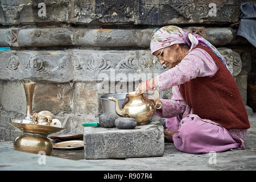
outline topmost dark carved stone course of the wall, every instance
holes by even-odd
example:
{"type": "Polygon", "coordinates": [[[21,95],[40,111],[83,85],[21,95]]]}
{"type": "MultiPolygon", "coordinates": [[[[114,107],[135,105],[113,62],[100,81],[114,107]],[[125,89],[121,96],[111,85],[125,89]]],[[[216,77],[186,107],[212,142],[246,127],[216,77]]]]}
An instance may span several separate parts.
{"type": "Polygon", "coordinates": [[[187,24],[238,22],[240,1],[2,0],[0,23],[187,24]],[[46,8],[42,14],[42,6],[46,8]]]}

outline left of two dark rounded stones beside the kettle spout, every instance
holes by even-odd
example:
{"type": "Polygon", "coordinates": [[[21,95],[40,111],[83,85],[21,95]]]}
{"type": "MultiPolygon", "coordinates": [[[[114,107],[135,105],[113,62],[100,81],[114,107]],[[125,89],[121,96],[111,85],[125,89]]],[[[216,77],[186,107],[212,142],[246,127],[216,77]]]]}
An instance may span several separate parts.
{"type": "Polygon", "coordinates": [[[115,120],[118,118],[114,113],[103,113],[98,117],[98,122],[101,127],[111,128],[115,127],[115,120]]]}

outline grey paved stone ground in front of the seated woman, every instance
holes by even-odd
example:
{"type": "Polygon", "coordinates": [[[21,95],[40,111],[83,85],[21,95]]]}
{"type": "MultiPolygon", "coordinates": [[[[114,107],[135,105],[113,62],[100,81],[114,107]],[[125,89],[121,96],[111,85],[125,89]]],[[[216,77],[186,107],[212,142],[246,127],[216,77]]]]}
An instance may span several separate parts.
{"type": "Polygon", "coordinates": [[[246,150],[216,154],[187,154],[166,143],[164,155],[154,158],[84,159],[84,150],[53,150],[46,164],[39,156],[13,150],[13,142],[0,142],[0,170],[256,170],[256,113],[249,116],[246,150]],[[65,159],[63,159],[65,158],[65,159]]]}

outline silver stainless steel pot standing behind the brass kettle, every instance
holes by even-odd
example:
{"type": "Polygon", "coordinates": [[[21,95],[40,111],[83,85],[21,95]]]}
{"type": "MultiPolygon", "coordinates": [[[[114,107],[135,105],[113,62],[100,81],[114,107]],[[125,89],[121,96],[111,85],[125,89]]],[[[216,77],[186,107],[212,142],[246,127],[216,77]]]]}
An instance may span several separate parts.
{"type": "Polygon", "coordinates": [[[113,93],[105,96],[101,96],[101,105],[103,113],[115,113],[115,102],[108,100],[109,97],[117,98],[119,107],[122,109],[122,102],[125,100],[127,93],[113,93]]]}

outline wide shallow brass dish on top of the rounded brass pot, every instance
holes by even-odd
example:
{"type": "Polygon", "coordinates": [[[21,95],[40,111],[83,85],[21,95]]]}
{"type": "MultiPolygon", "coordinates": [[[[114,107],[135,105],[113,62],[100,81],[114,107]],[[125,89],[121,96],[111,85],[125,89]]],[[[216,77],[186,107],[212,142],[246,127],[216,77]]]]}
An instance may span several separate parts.
{"type": "MultiPolygon", "coordinates": [[[[11,120],[15,121],[16,119],[11,119],[11,120]]],[[[33,133],[33,134],[41,134],[41,135],[49,135],[49,134],[53,134],[53,133],[57,133],[65,130],[62,127],[55,127],[55,126],[26,124],[26,123],[17,123],[17,122],[8,122],[8,123],[25,133],[33,133]]]]}

